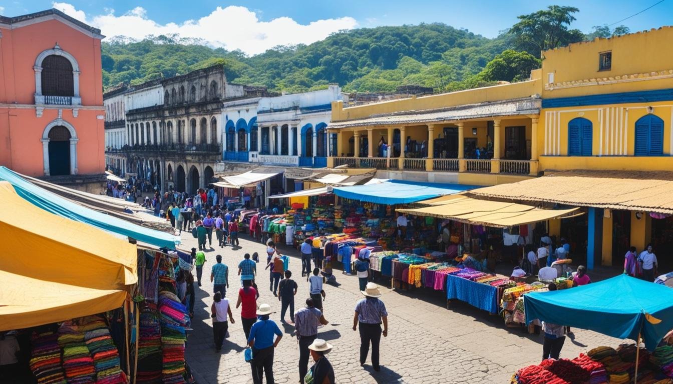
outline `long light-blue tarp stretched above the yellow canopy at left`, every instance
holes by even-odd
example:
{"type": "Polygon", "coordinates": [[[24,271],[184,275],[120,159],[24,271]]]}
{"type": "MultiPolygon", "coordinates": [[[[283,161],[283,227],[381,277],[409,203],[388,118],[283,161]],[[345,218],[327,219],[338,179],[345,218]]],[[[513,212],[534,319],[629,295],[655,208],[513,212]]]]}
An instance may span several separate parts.
{"type": "MultiPolygon", "coordinates": [[[[180,238],[170,233],[141,227],[140,225],[100,213],[97,210],[86,208],[58,196],[28,182],[20,174],[7,167],[0,166],[0,180],[9,182],[16,190],[16,193],[22,198],[55,215],[93,225],[105,231],[128,236],[137,241],[143,241],[143,243],[156,245],[157,247],[175,249],[176,245],[180,243],[180,238]]],[[[36,223],[36,225],[39,224],[36,223]]],[[[96,241],[96,239],[92,239],[92,241],[96,241]]]]}

